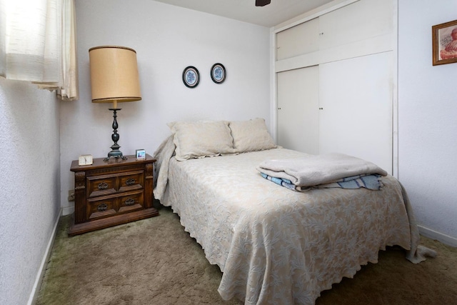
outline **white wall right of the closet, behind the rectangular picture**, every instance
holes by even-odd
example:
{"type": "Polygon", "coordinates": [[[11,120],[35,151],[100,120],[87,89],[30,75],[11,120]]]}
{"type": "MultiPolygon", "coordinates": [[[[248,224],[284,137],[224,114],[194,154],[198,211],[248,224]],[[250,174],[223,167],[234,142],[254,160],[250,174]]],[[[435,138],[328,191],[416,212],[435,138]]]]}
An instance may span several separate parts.
{"type": "Polygon", "coordinates": [[[423,234],[457,246],[457,63],[432,66],[431,26],[455,0],[398,1],[399,179],[423,234]]]}

